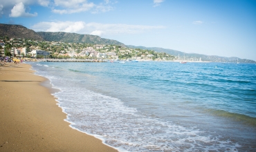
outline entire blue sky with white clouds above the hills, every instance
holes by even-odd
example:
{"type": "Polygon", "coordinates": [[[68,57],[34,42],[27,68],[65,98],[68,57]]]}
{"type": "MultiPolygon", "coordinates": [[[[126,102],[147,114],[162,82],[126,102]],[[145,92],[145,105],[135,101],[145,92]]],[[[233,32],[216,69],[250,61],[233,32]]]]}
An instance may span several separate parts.
{"type": "Polygon", "coordinates": [[[256,61],[256,0],[0,0],[0,23],[256,61]]]}

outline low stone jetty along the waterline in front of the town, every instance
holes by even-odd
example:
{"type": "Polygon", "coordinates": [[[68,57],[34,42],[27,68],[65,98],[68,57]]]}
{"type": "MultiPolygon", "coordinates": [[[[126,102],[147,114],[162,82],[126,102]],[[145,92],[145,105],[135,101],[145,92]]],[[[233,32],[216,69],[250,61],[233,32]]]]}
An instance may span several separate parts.
{"type": "Polygon", "coordinates": [[[37,59],[45,62],[106,62],[100,59],[37,59]]]}

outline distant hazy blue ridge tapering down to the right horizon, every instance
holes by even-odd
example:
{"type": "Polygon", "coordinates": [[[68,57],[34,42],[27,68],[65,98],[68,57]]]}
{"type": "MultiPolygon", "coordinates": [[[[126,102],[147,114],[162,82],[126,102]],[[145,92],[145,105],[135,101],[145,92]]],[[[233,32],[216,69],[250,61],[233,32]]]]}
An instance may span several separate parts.
{"type": "Polygon", "coordinates": [[[140,48],[143,50],[154,50],[158,53],[167,53],[170,55],[174,55],[176,57],[180,57],[180,59],[192,60],[192,59],[200,59],[201,61],[213,61],[213,62],[240,62],[240,63],[256,63],[251,59],[240,59],[239,57],[220,57],[217,55],[201,55],[197,53],[183,53],[179,50],[172,50],[166,48],[157,48],[157,47],[145,47],[145,46],[127,46],[128,48],[140,48]]]}

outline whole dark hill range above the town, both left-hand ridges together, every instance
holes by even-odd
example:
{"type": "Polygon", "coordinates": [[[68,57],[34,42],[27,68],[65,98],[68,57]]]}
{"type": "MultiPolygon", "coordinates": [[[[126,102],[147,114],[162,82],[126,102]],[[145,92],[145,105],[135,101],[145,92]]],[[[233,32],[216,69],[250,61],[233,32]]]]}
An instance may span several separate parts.
{"type": "Polygon", "coordinates": [[[96,35],[80,35],[69,32],[35,32],[24,26],[0,23],[0,37],[32,39],[37,41],[61,41],[66,43],[109,44],[124,46],[112,39],[104,39],[96,35]]]}

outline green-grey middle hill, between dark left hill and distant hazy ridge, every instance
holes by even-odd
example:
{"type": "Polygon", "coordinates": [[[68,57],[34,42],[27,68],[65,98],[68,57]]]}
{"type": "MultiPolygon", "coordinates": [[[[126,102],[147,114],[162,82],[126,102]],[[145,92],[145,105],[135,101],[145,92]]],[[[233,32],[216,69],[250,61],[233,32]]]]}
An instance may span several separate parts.
{"type": "Polygon", "coordinates": [[[104,39],[96,35],[80,35],[69,32],[37,32],[45,41],[61,41],[66,43],[86,43],[86,44],[112,44],[125,46],[125,44],[113,39],[104,39]]]}

